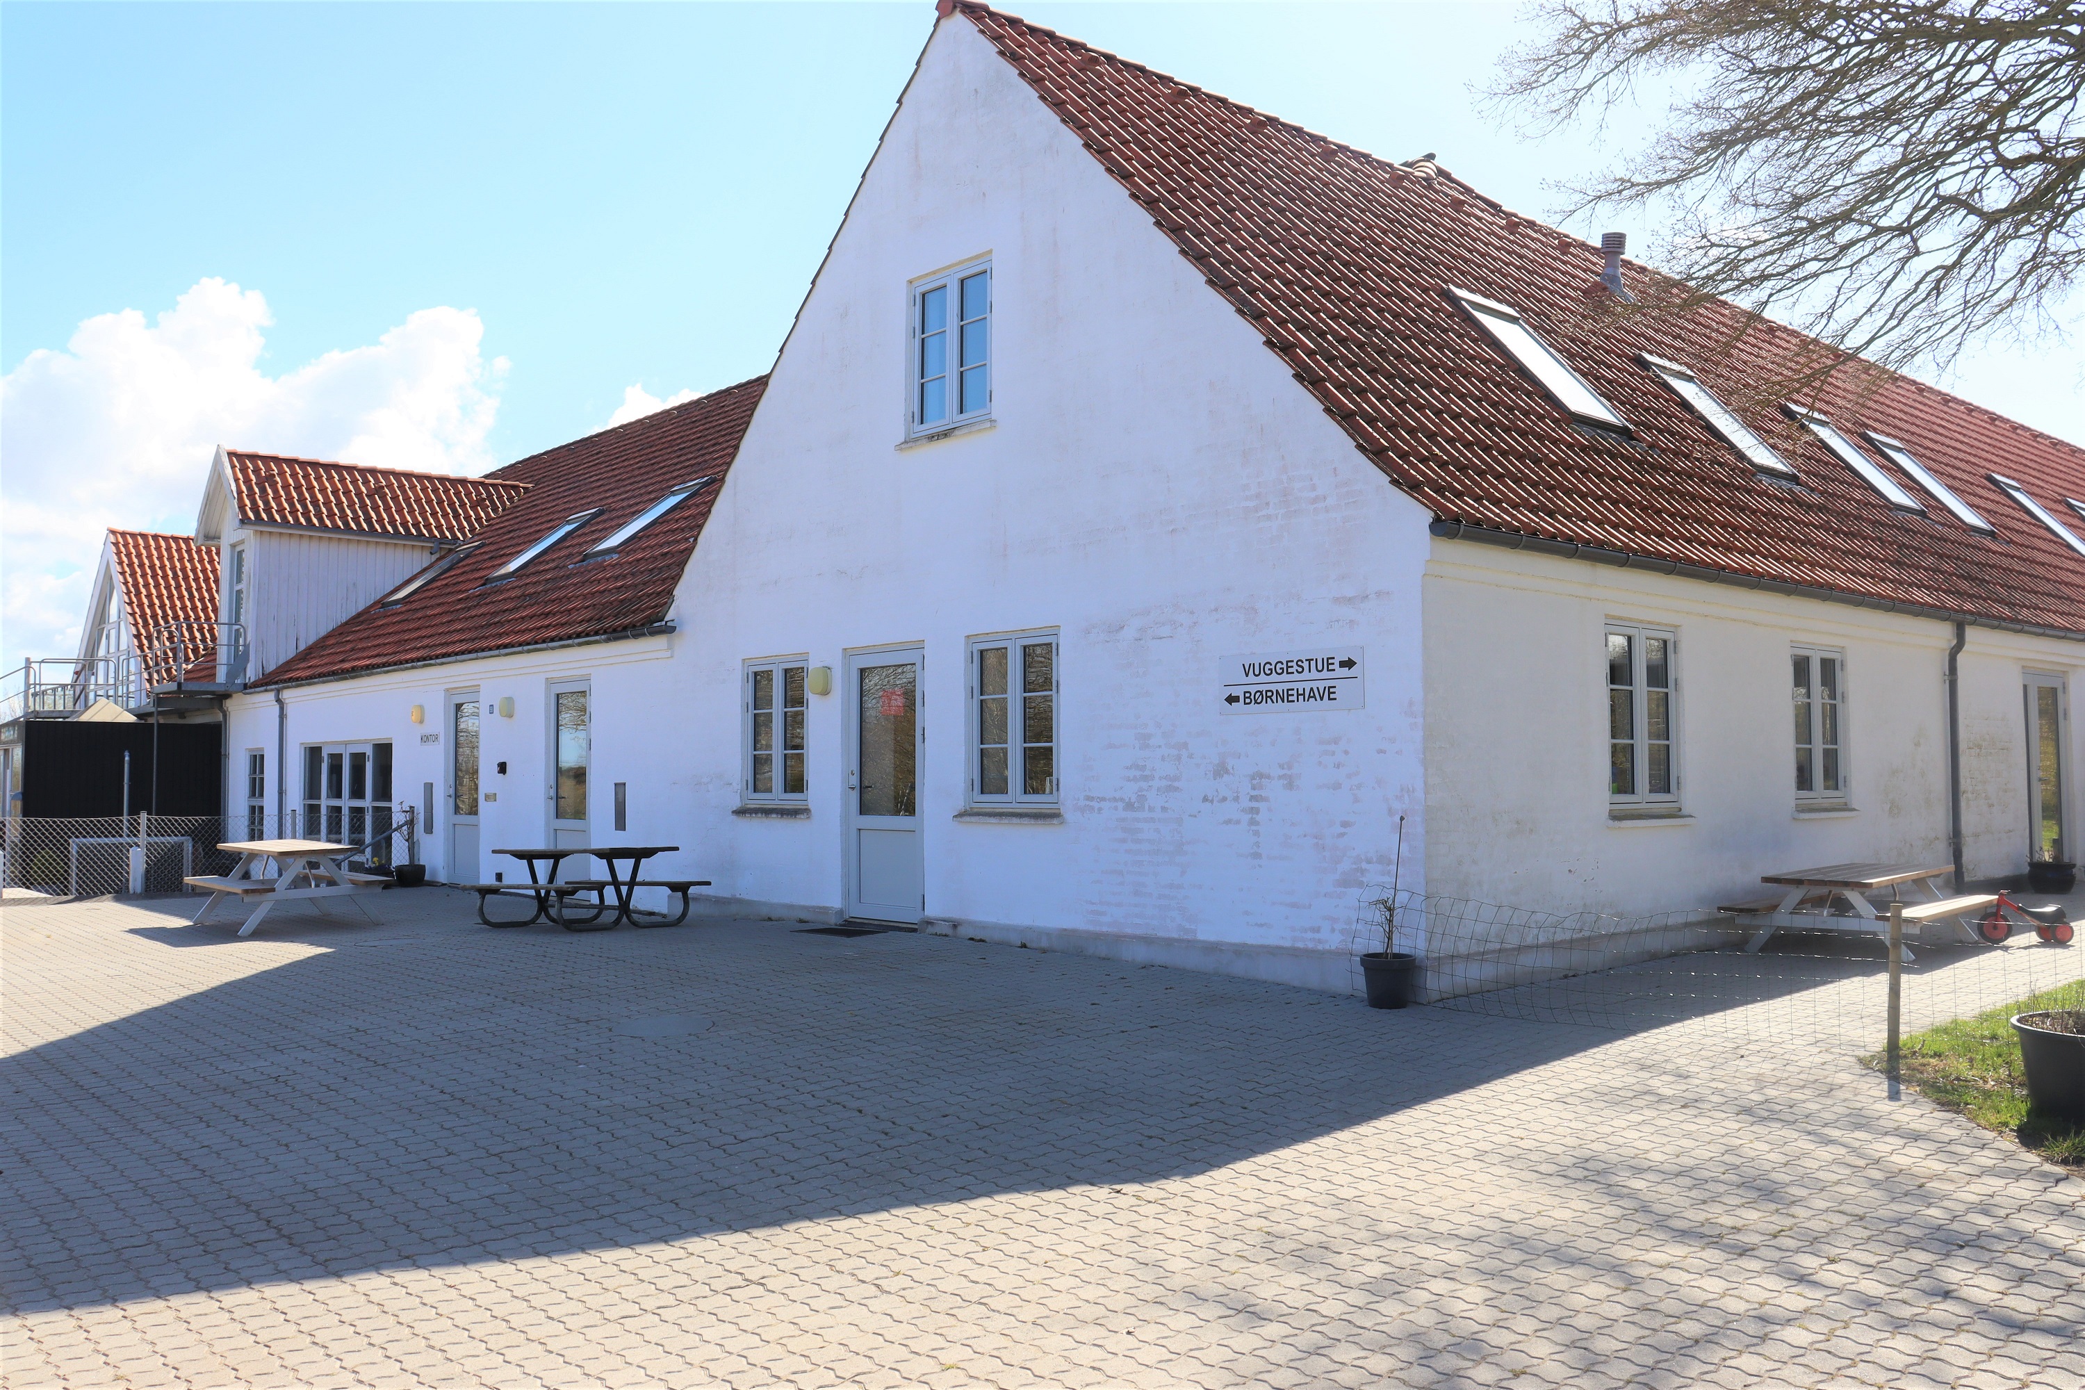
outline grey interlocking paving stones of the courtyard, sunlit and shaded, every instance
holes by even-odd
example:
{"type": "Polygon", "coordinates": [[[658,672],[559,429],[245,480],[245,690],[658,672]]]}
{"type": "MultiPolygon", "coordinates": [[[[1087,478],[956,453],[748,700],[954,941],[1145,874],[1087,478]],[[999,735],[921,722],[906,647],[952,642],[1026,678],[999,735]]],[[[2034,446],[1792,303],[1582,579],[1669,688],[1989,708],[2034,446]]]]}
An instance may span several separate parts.
{"type": "Polygon", "coordinates": [[[1787,1000],[181,911],[4,913],[8,1386],[2085,1386],[2085,1182],[1787,1000]]]}

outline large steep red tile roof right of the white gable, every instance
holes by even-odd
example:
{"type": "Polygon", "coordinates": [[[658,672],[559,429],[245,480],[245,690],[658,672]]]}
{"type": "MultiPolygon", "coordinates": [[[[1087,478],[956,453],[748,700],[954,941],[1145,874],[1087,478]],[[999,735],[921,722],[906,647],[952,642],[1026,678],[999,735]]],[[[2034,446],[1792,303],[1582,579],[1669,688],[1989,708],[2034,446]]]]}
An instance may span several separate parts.
{"type": "MultiPolygon", "coordinates": [[[[1731,304],[1618,319],[1587,296],[1597,248],[1445,171],[1374,158],[982,4],[942,0],[942,13],[976,25],[1439,521],[2085,631],[2085,559],[1985,477],[2018,479],[2079,525],[2064,498],[2085,498],[2085,450],[1904,375],[1837,373],[1808,404],[1847,436],[1874,429],[1908,444],[1997,536],[1964,529],[1939,504],[1927,517],[1891,511],[1758,402],[1789,363],[1829,352],[1822,344],[1772,323],[1739,338],[1747,317],[1731,304]],[[1518,308],[1637,440],[1574,425],[1447,286],[1518,308]],[[1637,363],[1645,350],[1693,367],[1801,486],[1762,479],[1637,363]]],[[[1626,265],[1624,277],[1643,292],[1643,267],[1626,265]]]]}

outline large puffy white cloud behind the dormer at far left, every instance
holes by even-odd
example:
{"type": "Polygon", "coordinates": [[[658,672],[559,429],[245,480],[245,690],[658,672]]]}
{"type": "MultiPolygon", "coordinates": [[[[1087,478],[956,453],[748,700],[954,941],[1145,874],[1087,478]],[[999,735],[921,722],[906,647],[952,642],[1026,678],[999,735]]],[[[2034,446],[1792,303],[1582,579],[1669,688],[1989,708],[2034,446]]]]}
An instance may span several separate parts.
{"type": "Polygon", "coordinates": [[[192,531],[219,444],[446,473],[492,467],[505,358],[467,308],[421,308],[373,346],[261,371],[259,290],[196,281],[154,323],[79,325],[0,379],[4,663],[77,648],[111,525],[192,531]]]}

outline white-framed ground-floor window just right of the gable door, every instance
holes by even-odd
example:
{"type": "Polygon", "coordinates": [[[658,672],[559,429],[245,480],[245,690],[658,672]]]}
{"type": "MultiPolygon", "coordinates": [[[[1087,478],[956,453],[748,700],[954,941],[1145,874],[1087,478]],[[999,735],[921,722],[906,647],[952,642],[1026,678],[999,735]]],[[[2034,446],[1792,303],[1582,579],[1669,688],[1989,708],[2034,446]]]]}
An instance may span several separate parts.
{"type": "Polygon", "coordinates": [[[970,800],[1057,804],[1057,631],[970,640],[970,800]]]}

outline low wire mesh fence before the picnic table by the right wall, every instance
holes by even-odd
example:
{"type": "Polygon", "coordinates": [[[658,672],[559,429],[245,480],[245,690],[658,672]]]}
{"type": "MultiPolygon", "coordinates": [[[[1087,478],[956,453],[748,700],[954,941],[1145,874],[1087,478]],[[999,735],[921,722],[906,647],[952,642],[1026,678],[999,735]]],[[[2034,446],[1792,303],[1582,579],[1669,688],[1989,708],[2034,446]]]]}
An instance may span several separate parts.
{"type": "MultiPolygon", "coordinates": [[[[1355,957],[1384,948],[1393,913],[1395,948],[1420,959],[1418,1000],[1432,1007],[1614,1029],[1718,1019],[1760,1040],[1883,1046],[1887,919],[1833,915],[1820,929],[1764,934],[1708,909],[1543,913],[1378,886],[1355,913],[1355,957]]],[[[2085,988],[2085,948],[2043,940],[2033,923],[1991,942],[1979,919],[1906,934],[1906,1032],[2085,988]]]]}

